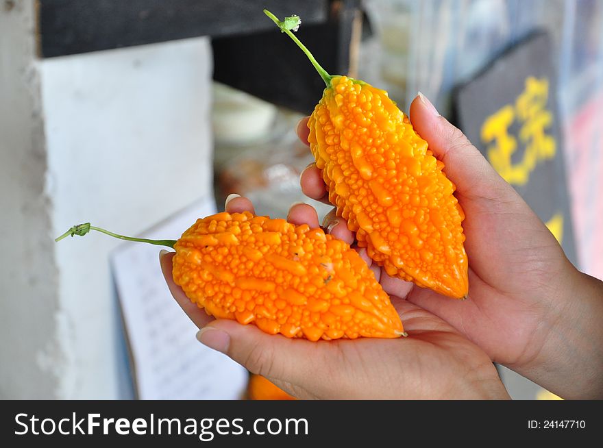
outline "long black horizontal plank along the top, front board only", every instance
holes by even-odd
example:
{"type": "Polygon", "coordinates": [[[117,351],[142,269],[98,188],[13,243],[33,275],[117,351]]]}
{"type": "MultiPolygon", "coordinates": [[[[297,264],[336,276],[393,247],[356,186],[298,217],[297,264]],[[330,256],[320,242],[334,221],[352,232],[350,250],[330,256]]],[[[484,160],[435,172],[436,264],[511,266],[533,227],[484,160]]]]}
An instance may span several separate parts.
{"type": "Polygon", "coordinates": [[[38,0],[42,58],[274,27],[262,10],[324,23],[328,0],[38,0]]]}

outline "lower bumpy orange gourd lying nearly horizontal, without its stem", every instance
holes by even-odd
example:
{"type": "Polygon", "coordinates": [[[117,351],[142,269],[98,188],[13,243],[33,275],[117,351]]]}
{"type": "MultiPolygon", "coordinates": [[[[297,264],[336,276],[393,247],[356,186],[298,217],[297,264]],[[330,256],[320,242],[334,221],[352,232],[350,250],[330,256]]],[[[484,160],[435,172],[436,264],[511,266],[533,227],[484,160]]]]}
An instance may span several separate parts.
{"type": "Polygon", "coordinates": [[[367,264],[321,229],[223,212],[197,220],[174,249],[174,282],[217,318],[309,340],[404,332],[367,264]]]}

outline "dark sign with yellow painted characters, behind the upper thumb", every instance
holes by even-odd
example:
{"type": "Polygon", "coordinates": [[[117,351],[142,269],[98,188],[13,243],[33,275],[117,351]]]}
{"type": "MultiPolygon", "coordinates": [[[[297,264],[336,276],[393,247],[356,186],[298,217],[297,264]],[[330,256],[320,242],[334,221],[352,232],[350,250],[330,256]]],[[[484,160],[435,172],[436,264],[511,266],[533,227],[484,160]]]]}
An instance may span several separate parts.
{"type": "Polygon", "coordinates": [[[552,42],[530,36],[456,91],[460,129],[576,262],[552,42]]]}

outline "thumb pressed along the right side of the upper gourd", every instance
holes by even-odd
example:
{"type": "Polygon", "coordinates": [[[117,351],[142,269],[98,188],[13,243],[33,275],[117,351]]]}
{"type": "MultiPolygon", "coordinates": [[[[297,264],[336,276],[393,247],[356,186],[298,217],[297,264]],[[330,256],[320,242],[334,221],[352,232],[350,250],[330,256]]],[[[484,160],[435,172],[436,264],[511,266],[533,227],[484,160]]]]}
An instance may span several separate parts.
{"type": "MultiPolygon", "coordinates": [[[[410,121],[429,149],[444,164],[444,172],[456,185],[456,192],[467,199],[517,198],[517,193],[492,168],[465,134],[441,116],[421,93],[410,104],[410,121]]],[[[460,200],[460,199],[459,199],[460,200]]]]}

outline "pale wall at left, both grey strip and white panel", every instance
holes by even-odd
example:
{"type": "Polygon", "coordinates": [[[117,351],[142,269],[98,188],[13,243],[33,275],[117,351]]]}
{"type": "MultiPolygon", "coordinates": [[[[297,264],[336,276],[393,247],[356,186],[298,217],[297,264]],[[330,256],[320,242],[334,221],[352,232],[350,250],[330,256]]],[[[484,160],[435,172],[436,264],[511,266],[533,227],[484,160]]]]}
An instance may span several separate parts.
{"type": "Polygon", "coordinates": [[[210,191],[209,43],[35,60],[17,3],[21,17],[0,13],[0,397],[124,397],[119,241],[52,238],[88,221],[135,235],[210,191]]]}

